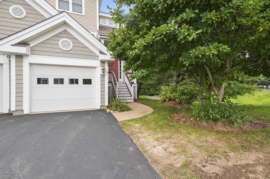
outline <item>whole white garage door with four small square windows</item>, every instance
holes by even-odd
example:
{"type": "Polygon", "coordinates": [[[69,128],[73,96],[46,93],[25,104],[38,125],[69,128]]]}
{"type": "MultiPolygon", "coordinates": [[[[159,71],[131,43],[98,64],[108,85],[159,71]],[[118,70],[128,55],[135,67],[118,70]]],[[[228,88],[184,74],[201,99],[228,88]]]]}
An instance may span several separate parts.
{"type": "Polygon", "coordinates": [[[96,108],[96,68],[31,64],[31,112],[96,108]]]}

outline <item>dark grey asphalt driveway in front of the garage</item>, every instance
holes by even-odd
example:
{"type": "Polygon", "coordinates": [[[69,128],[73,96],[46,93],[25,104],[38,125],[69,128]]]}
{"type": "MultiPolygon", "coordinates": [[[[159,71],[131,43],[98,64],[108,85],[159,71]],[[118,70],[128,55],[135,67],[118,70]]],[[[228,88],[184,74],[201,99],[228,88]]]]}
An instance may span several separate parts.
{"type": "Polygon", "coordinates": [[[0,178],[161,178],[104,110],[0,115],[0,178]]]}

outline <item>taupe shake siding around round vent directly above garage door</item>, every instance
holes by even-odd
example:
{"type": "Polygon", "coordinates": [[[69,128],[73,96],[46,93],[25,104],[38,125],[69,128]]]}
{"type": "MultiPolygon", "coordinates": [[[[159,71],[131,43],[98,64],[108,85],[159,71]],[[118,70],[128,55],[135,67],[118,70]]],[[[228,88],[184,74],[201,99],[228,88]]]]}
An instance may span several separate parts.
{"type": "Polygon", "coordinates": [[[90,50],[85,44],[80,42],[67,30],[36,44],[30,48],[31,55],[46,55],[54,57],[70,57],[98,60],[99,56],[90,50]],[[73,47],[69,51],[64,51],[59,47],[59,41],[62,38],[68,38],[73,43],[73,47]]]}

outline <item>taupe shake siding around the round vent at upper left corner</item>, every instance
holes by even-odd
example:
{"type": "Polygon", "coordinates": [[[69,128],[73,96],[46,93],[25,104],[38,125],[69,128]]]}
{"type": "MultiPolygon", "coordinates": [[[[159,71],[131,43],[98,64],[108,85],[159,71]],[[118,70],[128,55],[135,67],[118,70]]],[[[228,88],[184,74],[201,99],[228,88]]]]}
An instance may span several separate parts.
{"type": "Polygon", "coordinates": [[[35,8],[23,0],[0,1],[0,39],[26,29],[47,19],[35,8]],[[21,6],[26,11],[26,16],[17,19],[9,13],[9,8],[13,5],[21,6]]]}

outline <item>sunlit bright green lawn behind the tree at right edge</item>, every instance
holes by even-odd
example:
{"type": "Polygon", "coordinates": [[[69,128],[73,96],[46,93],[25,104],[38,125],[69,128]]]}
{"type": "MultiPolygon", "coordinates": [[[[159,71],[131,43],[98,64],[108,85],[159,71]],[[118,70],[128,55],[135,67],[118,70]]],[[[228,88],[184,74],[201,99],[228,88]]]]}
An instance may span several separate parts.
{"type": "Polygon", "coordinates": [[[248,107],[247,115],[258,120],[270,122],[270,92],[258,90],[254,93],[254,96],[252,94],[245,94],[231,101],[248,107]]]}

